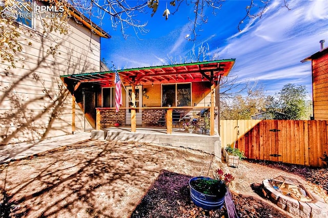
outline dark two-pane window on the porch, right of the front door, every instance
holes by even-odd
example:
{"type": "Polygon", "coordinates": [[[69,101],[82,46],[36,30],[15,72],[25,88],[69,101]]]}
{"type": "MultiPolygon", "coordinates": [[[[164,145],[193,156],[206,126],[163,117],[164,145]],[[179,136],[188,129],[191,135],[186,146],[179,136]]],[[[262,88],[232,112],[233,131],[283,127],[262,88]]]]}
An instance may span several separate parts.
{"type": "Polygon", "coordinates": [[[191,106],[191,83],[163,84],[162,106],[191,106]]]}

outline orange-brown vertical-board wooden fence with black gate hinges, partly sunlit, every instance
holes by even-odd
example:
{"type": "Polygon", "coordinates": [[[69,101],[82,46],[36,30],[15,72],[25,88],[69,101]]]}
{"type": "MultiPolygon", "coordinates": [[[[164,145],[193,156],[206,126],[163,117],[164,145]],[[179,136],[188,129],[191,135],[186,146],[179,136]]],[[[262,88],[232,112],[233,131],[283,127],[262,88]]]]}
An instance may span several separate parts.
{"type": "Polygon", "coordinates": [[[238,127],[234,127],[234,124],[228,125],[229,122],[236,121],[220,122],[222,145],[233,145],[236,140],[235,147],[242,150],[247,158],[323,166],[320,157],[328,152],[326,120],[261,120],[244,131],[241,131],[242,126],[253,123],[238,120],[238,125],[235,123],[238,127]],[[238,136],[235,129],[237,133],[240,129],[238,136]],[[233,135],[235,139],[226,141],[226,135],[227,138],[233,135]]]}

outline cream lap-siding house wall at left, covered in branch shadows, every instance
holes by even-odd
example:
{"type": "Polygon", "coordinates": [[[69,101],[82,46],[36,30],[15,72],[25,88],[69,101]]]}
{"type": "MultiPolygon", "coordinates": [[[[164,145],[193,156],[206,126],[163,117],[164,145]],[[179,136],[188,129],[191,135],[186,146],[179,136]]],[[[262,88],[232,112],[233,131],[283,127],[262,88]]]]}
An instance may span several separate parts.
{"type": "MultiPolygon", "coordinates": [[[[16,69],[8,69],[8,63],[0,65],[0,144],[71,134],[72,95],[59,76],[100,71],[98,35],[69,20],[67,35],[44,37],[40,25],[36,19],[33,37],[22,36],[24,49],[17,58],[24,58],[24,63],[17,63],[16,69]],[[55,45],[49,38],[60,44],[54,55],[47,53],[55,45]]],[[[75,132],[91,127],[78,104],[75,126],[75,132]]]]}

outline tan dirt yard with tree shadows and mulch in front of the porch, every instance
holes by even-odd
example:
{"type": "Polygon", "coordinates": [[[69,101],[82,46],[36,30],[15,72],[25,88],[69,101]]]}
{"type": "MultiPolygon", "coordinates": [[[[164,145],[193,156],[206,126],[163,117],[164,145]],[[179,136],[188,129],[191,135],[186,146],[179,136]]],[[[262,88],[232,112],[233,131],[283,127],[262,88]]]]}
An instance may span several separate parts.
{"type": "MultiPolygon", "coordinates": [[[[217,165],[210,169],[211,162],[212,156],[203,152],[145,143],[89,140],[64,146],[0,165],[0,216],[227,217],[224,207],[203,211],[190,202],[189,178],[212,176],[217,165]]],[[[326,169],[313,170],[328,177],[326,169]]],[[[242,217],[290,217],[254,188],[279,175],[300,180],[327,200],[322,188],[327,183],[302,175],[309,170],[299,166],[243,161],[229,171],[242,217]],[[281,167],[296,168],[289,173],[281,167]]]]}

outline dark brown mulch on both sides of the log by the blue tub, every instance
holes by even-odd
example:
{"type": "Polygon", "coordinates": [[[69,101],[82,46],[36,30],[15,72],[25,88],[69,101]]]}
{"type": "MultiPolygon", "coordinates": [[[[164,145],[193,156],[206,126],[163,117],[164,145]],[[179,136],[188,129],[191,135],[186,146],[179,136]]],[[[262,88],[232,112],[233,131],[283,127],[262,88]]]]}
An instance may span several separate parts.
{"type": "MultiPolygon", "coordinates": [[[[228,217],[225,206],[208,211],[193,204],[188,185],[191,178],[163,170],[131,217],[228,217]]],[[[240,217],[291,217],[259,198],[239,194],[232,196],[240,217]]]]}

